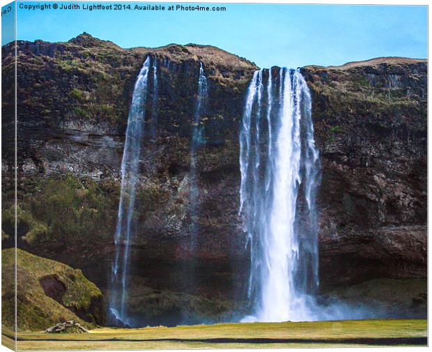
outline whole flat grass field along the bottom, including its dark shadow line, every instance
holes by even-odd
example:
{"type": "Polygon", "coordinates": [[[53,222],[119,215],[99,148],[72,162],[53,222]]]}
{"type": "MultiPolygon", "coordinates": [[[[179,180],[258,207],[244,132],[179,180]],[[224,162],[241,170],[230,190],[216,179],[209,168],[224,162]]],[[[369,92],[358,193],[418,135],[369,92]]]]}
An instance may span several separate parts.
{"type": "MultiPolygon", "coordinates": [[[[6,331],[3,331],[5,334],[6,331]]],[[[100,328],[88,334],[20,332],[18,350],[227,349],[425,346],[427,322],[414,320],[226,323],[175,328],[100,328]]],[[[9,336],[10,337],[10,336],[9,336]]],[[[13,343],[3,335],[3,344],[13,343]]]]}

